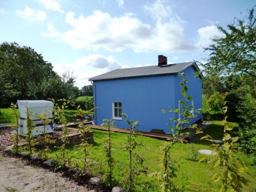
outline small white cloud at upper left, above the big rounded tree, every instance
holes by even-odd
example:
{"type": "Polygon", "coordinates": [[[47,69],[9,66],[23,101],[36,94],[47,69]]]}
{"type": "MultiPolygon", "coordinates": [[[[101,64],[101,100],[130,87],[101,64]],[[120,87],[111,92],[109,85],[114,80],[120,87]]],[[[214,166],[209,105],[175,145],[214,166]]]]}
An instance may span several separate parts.
{"type": "Polygon", "coordinates": [[[24,11],[17,10],[16,13],[17,13],[17,15],[19,15],[25,19],[32,20],[34,22],[36,22],[36,21],[42,22],[47,17],[46,13],[44,11],[40,11],[40,10],[37,11],[37,10],[30,8],[29,6],[26,6],[24,11]]]}

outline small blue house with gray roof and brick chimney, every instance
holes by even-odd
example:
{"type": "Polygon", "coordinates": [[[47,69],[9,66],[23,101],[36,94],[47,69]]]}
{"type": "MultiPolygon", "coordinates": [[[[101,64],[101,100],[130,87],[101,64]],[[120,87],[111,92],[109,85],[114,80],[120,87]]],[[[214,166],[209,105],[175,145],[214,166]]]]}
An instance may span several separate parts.
{"type": "MultiPolygon", "coordinates": [[[[89,80],[93,82],[94,120],[100,125],[103,119],[115,120],[116,127],[127,128],[121,113],[129,119],[138,120],[140,131],[153,129],[170,132],[167,124],[175,126],[170,117],[175,114],[162,113],[162,110],[180,108],[181,77],[184,73],[189,79],[188,94],[193,96],[191,105],[194,109],[202,108],[202,75],[195,77],[199,71],[196,62],[167,64],[167,57],[158,56],[157,66],[117,69],[89,80]]],[[[179,114],[176,114],[177,118],[179,114]]],[[[201,119],[201,114],[191,120],[201,119]]]]}

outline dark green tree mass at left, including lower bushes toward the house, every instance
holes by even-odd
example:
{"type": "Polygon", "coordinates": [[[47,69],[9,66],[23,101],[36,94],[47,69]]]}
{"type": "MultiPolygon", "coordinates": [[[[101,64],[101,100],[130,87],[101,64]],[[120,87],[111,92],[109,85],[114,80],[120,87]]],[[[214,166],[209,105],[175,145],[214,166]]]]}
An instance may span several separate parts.
{"type": "Polygon", "coordinates": [[[0,44],[0,105],[17,99],[74,98],[79,89],[73,74],[60,77],[41,54],[16,42],[0,44]]]}

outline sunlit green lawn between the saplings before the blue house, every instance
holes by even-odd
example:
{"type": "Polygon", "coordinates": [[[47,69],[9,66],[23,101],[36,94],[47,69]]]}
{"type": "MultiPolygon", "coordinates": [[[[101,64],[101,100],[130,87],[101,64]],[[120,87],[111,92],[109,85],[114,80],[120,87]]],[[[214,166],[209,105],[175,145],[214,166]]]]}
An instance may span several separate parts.
{"type": "MultiPolygon", "coordinates": [[[[207,141],[201,141],[201,136],[205,134],[212,135],[215,139],[222,139],[223,126],[221,121],[212,121],[214,124],[210,125],[208,129],[204,131],[203,134],[197,135],[193,138],[193,147],[196,151],[200,149],[210,149],[210,143],[207,141]]],[[[103,166],[104,162],[104,138],[106,133],[104,131],[93,130],[95,144],[91,147],[90,158],[90,172],[98,177],[103,177],[103,166]]],[[[126,140],[126,134],[112,133],[112,144],[113,144],[113,156],[116,160],[114,175],[118,182],[123,180],[123,174],[126,172],[128,167],[129,156],[124,150],[124,141],[126,140]]],[[[157,140],[149,137],[138,136],[137,141],[142,142],[144,146],[139,146],[137,148],[137,153],[145,158],[145,165],[148,167],[148,174],[145,176],[140,176],[137,181],[138,191],[159,191],[159,185],[156,179],[148,176],[150,173],[154,173],[160,170],[160,159],[162,153],[159,147],[164,141],[157,140]],[[148,187],[148,188],[147,188],[148,187]]],[[[202,163],[189,160],[191,144],[176,144],[175,148],[172,150],[172,156],[180,165],[178,168],[177,178],[174,179],[175,183],[179,187],[183,187],[183,191],[219,191],[220,181],[214,182],[211,177],[218,170],[213,166],[205,166],[202,163]]],[[[73,146],[69,146],[70,156],[72,157],[72,164],[78,162],[81,166],[81,154],[82,152],[75,152],[73,146]]],[[[59,154],[58,150],[55,148],[49,153],[51,158],[56,158],[55,154],[59,154]]],[[[244,161],[248,161],[245,154],[239,153],[238,156],[244,161]]],[[[218,170],[222,171],[222,170],[218,170]]],[[[256,186],[253,184],[253,179],[256,176],[256,167],[249,167],[248,171],[250,176],[247,176],[251,180],[249,186],[245,188],[244,191],[255,191],[256,186]]],[[[121,184],[119,184],[121,185],[121,184]]]]}

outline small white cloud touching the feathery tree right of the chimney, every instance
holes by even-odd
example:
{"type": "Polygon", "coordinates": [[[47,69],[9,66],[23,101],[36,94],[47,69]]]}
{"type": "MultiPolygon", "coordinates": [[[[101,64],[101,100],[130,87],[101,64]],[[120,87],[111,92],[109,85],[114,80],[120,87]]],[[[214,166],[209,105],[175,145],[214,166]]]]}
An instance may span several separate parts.
{"type": "Polygon", "coordinates": [[[224,34],[218,30],[215,25],[202,27],[198,32],[199,40],[197,42],[197,46],[199,48],[206,48],[210,44],[212,44],[212,38],[214,37],[223,37],[224,34]]]}

